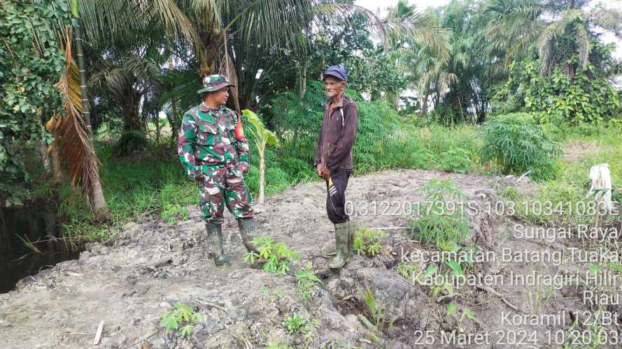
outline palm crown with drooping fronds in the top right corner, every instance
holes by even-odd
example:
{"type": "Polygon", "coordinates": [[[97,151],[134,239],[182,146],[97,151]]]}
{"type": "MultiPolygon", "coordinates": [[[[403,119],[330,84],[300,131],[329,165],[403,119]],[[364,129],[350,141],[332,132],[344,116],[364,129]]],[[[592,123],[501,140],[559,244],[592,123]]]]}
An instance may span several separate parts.
{"type": "Polygon", "coordinates": [[[506,52],[504,66],[537,50],[540,73],[550,76],[563,67],[572,76],[586,68],[594,29],[622,38],[622,11],[596,6],[586,0],[490,0],[486,6],[493,21],[487,37],[490,49],[506,52]],[[573,56],[578,63],[569,62],[573,56]]]}

